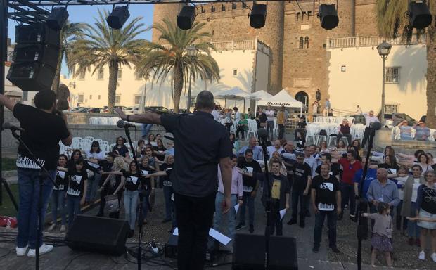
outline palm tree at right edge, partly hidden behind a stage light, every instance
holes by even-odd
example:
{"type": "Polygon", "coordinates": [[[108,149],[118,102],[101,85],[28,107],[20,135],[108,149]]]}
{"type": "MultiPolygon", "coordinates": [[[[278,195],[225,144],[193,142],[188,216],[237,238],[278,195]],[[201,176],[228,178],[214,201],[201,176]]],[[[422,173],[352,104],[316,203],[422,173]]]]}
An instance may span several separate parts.
{"type": "MultiPolygon", "coordinates": [[[[386,38],[404,37],[411,40],[413,29],[409,19],[404,16],[408,8],[408,1],[378,0],[376,4],[377,26],[380,35],[386,38]]],[[[431,13],[436,14],[436,5],[430,4],[431,13]]],[[[416,34],[423,34],[423,30],[416,34]]],[[[436,127],[436,20],[427,27],[427,119],[428,127],[436,127]]]]}

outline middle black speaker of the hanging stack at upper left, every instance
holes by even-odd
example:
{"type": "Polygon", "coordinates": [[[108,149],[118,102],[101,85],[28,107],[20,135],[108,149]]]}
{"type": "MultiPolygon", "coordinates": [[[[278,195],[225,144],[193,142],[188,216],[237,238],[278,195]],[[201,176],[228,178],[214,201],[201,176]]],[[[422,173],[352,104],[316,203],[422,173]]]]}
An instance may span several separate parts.
{"type": "Polygon", "coordinates": [[[13,63],[39,62],[50,65],[52,68],[58,66],[59,47],[43,44],[18,44],[13,49],[13,63]]]}

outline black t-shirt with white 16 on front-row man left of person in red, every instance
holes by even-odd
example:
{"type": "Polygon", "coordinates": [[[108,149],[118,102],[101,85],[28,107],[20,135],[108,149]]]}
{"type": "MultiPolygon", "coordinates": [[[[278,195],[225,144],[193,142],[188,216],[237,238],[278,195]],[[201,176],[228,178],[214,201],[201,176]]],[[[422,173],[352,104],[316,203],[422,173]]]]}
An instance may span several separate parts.
{"type": "Polygon", "coordinates": [[[312,189],[316,190],[315,204],[319,210],[333,211],[336,206],[336,191],[339,191],[339,181],[335,176],[329,175],[328,179],[317,175],[312,180],[312,189]]]}

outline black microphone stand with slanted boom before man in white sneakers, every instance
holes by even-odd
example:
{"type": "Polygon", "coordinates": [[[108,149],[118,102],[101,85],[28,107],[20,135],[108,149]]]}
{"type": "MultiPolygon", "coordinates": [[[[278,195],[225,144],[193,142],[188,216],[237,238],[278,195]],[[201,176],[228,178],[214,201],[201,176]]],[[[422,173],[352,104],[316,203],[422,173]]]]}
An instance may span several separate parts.
{"type": "Polygon", "coordinates": [[[29,153],[30,158],[34,160],[34,162],[38,165],[40,172],[39,172],[39,198],[38,198],[38,209],[37,209],[37,246],[35,247],[35,269],[39,270],[39,234],[41,233],[41,211],[42,211],[42,187],[44,186],[44,179],[49,178],[53,186],[56,188],[59,188],[59,186],[56,184],[56,182],[53,180],[53,178],[50,176],[49,172],[47,171],[44,166],[41,165],[39,160],[35,157],[34,153],[27,147],[27,145],[24,143],[24,141],[21,139],[20,135],[16,133],[15,130],[11,130],[12,136],[18,140],[18,142],[24,146],[24,148],[27,150],[27,153],[29,153]]]}

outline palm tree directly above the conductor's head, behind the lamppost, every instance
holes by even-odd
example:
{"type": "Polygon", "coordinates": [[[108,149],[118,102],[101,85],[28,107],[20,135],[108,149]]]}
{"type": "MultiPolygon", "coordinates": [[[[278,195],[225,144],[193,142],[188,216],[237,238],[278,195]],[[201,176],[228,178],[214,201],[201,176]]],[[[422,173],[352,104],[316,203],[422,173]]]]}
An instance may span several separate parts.
{"type": "Polygon", "coordinates": [[[168,75],[172,75],[174,86],[174,112],[179,112],[181,91],[192,71],[192,79],[200,77],[203,81],[219,80],[217,61],[210,55],[216,51],[215,47],[205,41],[210,39],[208,32],[201,32],[205,23],[194,23],[190,30],[181,30],[167,18],[163,24],[155,25],[155,31],[160,32],[160,44],[150,42],[146,44],[144,57],[136,64],[136,73],[143,77],[151,76],[152,82],[163,82],[168,75]],[[165,44],[165,45],[162,45],[165,44]],[[186,47],[195,44],[199,53],[196,57],[186,54],[186,47]]]}

